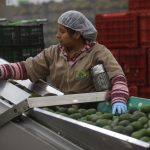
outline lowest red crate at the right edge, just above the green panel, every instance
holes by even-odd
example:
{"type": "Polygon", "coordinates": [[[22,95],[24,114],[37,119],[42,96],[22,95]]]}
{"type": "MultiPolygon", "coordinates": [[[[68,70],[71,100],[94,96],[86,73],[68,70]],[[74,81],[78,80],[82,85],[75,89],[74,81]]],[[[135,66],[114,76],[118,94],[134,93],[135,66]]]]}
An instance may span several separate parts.
{"type": "Polygon", "coordinates": [[[139,97],[150,98],[150,86],[139,87],[139,97]]]}

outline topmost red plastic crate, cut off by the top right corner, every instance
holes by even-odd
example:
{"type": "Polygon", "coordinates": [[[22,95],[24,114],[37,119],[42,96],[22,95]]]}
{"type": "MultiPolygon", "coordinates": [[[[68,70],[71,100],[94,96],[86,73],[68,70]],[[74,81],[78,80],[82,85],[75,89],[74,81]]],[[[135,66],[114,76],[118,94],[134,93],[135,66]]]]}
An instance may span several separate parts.
{"type": "Polygon", "coordinates": [[[129,11],[150,10],[150,0],[128,0],[129,11]]]}

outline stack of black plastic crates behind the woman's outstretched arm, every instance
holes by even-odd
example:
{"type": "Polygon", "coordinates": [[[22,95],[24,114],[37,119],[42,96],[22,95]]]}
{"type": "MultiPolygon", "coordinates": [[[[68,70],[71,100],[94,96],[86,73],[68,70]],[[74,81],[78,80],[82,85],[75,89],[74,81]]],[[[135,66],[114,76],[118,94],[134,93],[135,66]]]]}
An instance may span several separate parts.
{"type": "MultiPolygon", "coordinates": [[[[27,21],[26,21],[27,22],[27,21]]],[[[0,23],[0,57],[17,62],[35,56],[44,48],[42,23],[0,23]]]]}

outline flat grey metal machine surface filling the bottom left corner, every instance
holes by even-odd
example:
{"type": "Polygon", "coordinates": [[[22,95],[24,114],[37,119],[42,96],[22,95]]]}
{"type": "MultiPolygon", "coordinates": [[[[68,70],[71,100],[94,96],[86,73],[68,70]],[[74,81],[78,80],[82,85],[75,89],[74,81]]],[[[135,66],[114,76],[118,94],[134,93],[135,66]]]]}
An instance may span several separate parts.
{"type": "MultiPolygon", "coordinates": [[[[7,107],[0,103],[0,110],[7,107]]],[[[56,132],[24,116],[22,122],[10,121],[0,128],[1,150],[83,150],[56,132]]]]}

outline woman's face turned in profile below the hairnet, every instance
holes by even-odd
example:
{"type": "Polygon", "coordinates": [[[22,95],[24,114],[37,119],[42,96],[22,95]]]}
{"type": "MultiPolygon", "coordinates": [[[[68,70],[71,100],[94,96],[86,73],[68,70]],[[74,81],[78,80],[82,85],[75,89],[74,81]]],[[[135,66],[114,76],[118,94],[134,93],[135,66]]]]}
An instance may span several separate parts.
{"type": "Polygon", "coordinates": [[[70,35],[67,29],[61,24],[58,24],[56,38],[60,44],[65,47],[72,47],[76,40],[74,36],[70,35]]]}

